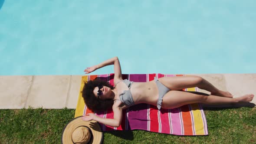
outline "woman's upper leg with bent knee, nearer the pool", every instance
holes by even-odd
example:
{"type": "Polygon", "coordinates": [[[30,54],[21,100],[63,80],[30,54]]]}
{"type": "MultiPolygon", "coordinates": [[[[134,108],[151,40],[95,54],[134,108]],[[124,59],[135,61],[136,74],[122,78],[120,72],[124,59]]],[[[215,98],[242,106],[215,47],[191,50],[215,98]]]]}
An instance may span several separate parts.
{"type": "Polygon", "coordinates": [[[232,98],[233,95],[230,92],[224,92],[213,86],[210,82],[203,79],[200,76],[176,76],[176,77],[163,77],[159,78],[159,81],[170,88],[171,90],[180,90],[184,88],[198,87],[211,92],[211,95],[223,96],[232,98]]]}

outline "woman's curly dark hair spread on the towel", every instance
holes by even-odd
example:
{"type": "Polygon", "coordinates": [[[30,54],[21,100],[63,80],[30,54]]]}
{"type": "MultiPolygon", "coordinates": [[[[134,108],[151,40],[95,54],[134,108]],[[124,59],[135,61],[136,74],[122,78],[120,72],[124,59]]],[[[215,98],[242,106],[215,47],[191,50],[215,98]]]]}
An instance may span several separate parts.
{"type": "Polygon", "coordinates": [[[105,85],[111,89],[114,89],[112,85],[104,80],[95,79],[93,81],[85,82],[85,86],[82,90],[82,97],[84,98],[85,104],[92,111],[105,111],[108,108],[112,108],[114,104],[113,99],[100,100],[95,97],[93,90],[98,84],[105,85]]]}

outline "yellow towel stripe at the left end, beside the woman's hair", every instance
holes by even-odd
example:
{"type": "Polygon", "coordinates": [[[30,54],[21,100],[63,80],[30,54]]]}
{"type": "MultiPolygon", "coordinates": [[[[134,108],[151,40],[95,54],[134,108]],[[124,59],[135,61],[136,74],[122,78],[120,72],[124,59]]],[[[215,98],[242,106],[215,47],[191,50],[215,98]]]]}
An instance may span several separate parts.
{"type": "Polygon", "coordinates": [[[85,108],[85,101],[82,97],[82,90],[84,88],[85,82],[88,81],[88,75],[82,76],[82,82],[81,82],[81,87],[80,87],[80,92],[79,92],[79,97],[75,109],[75,118],[83,115],[84,108],[85,108]]]}

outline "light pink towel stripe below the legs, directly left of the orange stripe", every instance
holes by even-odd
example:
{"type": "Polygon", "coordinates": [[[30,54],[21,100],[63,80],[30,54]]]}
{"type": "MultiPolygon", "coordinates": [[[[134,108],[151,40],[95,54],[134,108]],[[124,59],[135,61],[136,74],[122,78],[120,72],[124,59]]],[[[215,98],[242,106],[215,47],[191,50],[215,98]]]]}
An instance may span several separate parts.
{"type": "Polygon", "coordinates": [[[178,108],[171,109],[172,134],[181,135],[181,115],[178,108]]]}

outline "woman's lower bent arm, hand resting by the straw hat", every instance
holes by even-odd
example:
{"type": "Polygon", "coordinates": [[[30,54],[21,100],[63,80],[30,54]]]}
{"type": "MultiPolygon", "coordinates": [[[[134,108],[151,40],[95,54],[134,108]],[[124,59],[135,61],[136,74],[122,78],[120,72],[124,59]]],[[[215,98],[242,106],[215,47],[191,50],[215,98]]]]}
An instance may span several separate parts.
{"type": "Polygon", "coordinates": [[[109,125],[109,126],[112,126],[112,127],[119,127],[120,124],[121,124],[121,121],[122,121],[122,109],[121,107],[118,107],[117,106],[118,104],[115,104],[113,105],[113,112],[114,112],[114,118],[101,118],[101,117],[98,117],[97,115],[94,115],[92,113],[90,114],[87,114],[86,116],[82,116],[81,118],[84,120],[84,121],[91,121],[91,120],[94,120],[94,121],[98,121],[102,124],[106,124],[106,125],[109,125]]]}

